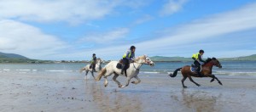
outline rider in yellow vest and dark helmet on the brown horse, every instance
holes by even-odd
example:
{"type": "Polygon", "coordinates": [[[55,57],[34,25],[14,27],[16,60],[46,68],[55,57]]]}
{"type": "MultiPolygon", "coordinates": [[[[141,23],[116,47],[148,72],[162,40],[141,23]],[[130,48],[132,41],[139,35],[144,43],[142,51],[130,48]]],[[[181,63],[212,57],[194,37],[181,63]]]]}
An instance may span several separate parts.
{"type": "Polygon", "coordinates": [[[204,50],[200,50],[199,53],[195,53],[192,55],[192,59],[194,59],[194,64],[195,66],[197,67],[197,74],[198,76],[202,77],[203,75],[201,74],[200,70],[201,70],[201,64],[200,64],[200,61],[203,62],[203,63],[206,63],[206,61],[202,60],[201,57],[202,55],[204,54],[204,50]]]}

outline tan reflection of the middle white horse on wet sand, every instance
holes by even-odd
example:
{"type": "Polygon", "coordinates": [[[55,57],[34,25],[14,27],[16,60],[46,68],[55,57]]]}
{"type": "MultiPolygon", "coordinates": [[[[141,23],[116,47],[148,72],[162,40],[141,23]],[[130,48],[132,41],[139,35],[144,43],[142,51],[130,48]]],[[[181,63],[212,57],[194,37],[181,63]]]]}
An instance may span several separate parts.
{"type": "Polygon", "coordinates": [[[109,90],[102,85],[90,85],[90,92],[96,107],[104,112],[119,111],[141,111],[142,102],[137,96],[129,92],[117,92],[115,89],[109,90]]]}

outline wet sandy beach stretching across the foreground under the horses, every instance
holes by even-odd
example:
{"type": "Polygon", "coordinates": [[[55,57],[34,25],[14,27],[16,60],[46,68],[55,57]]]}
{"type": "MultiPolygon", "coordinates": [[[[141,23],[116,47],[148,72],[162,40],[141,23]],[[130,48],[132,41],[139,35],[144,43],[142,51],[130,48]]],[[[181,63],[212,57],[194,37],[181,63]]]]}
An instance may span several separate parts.
{"type": "MultiPolygon", "coordinates": [[[[118,88],[109,77],[102,81],[85,81],[73,75],[38,75],[2,73],[0,111],[91,111],[91,112],[253,112],[256,109],[256,77],[218,76],[224,86],[210,78],[189,80],[183,89],[182,77],[140,74],[142,82],[118,88]]],[[[125,77],[118,80],[124,84],[125,77]]]]}

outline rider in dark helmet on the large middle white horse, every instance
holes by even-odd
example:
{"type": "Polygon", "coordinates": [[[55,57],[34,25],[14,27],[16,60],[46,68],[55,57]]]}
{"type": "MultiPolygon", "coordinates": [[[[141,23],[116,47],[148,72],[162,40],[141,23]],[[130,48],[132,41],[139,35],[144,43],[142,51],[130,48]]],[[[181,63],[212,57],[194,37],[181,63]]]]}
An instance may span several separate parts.
{"type": "MultiPolygon", "coordinates": [[[[124,74],[125,68],[131,63],[134,62],[134,57],[135,57],[135,46],[131,46],[131,48],[124,54],[123,56],[123,66],[122,66],[122,71],[121,74],[124,74]]],[[[125,76],[126,75],[126,70],[125,70],[125,76]]]]}

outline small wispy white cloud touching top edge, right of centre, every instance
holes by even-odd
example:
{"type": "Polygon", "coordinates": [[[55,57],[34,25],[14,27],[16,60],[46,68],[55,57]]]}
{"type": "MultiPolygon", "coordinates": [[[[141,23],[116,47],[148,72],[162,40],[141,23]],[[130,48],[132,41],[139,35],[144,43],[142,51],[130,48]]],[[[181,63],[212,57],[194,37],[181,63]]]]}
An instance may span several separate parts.
{"type": "Polygon", "coordinates": [[[188,0],[169,0],[160,10],[160,15],[170,15],[177,13],[177,11],[183,8],[183,5],[187,3],[188,0]]]}

